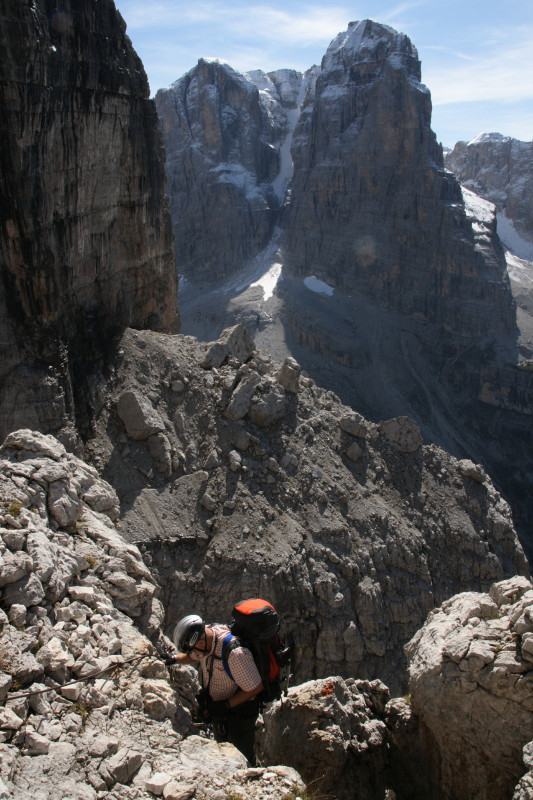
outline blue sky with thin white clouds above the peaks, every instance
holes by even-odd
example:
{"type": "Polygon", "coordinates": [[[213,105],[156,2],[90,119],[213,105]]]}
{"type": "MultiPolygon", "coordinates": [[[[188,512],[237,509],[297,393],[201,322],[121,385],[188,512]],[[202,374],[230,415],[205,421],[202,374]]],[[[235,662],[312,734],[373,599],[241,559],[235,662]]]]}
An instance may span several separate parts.
{"type": "Polygon", "coordinates": [[[152,94],[216,57],[245,72],[305,70],[351,20],[406,33],[431,90],[443,144],[483,131],[533,138],[532,0],[115,0],[152,94]]]}

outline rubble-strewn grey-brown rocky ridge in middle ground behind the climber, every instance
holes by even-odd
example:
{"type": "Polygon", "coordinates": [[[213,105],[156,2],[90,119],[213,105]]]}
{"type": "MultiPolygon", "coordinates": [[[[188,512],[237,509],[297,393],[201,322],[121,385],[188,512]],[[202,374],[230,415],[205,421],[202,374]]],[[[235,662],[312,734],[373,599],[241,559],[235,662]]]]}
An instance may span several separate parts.
{"type": "Polygon", "coordinates": [[[87,457],[164,587],[169,626],[266,595],[295,636],[297,680],[405,691],[403,646],[433,607],[527,574],[509,508],[411,420],[371,423],[247,343],[239,328],[207,346],[129,331],[87,457]],[[122,413],[132,394],[145,428],[122,413]]]}

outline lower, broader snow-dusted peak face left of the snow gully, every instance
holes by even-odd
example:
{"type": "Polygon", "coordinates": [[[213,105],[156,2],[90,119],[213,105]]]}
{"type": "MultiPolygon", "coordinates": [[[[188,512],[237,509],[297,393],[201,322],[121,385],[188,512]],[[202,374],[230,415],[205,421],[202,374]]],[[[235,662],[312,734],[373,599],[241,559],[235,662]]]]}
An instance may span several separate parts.
{"type": "Polygon", "coordinates": [[[156,104],[179,271],[196,282],[234,274],[272,234],[274,142],[286,119],[279,108],[273,116],[246,76],[204,59],[161,89],[156,104]]]}

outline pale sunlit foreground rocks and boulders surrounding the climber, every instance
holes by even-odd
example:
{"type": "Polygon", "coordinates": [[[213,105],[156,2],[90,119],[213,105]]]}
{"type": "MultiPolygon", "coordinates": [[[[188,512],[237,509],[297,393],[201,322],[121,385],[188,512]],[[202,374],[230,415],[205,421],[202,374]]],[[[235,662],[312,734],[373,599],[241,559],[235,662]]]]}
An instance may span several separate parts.
{"type": "Polygon", "coordinates": [[[249,769],[192,724],[195,673],[170,674],[158,655],[161,590],[118,512],[112,487],[53,437],[6,439],[2,800],[295,800],[306,784],[341,800],[532,796],[528,579],[431,612],[406,647],[410,696],[355,677],[292,688],[264,715],[269,766],[249,769]]]}

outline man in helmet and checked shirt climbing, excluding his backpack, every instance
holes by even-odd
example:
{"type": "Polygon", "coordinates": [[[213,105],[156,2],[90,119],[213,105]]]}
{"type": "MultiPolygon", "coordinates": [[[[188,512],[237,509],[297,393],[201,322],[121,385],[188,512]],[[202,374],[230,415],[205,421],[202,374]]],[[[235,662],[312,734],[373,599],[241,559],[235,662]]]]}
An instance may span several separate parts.
{"type": "Polygon", "coordinates": [[[166,661],[200,666],[202,691],[197,699],[201,718],[211,722],[217,742],[231,742],[253,766],[263,683],[246,647],[235,647],[229,653],[230,677],[222,660],[224,637],[229,633],[226,625],[206,625],[201,617],[189,614],[174,629],[178,655],[166,661]]]}

